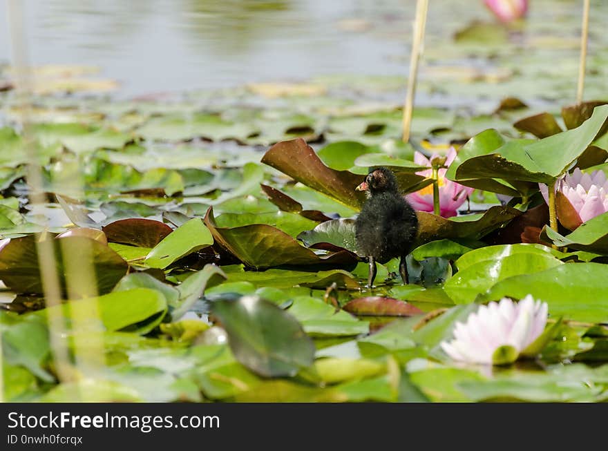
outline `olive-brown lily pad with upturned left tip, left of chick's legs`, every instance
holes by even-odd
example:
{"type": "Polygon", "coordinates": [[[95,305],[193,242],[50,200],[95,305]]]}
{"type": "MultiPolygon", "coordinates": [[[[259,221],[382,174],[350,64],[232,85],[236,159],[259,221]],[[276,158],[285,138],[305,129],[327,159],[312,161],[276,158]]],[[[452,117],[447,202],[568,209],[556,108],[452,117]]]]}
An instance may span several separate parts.
{"type": "Polygon", "coordinates": [[[205,225],[216,242],[225,247],[248,267],[266,269],[283,265],[351,265],[352,253],[340,251],[318,256],[298,244],[287,233],[267,224],[241,227],[218,227],[213,218],[213,207],[205,215],[205,225]]]}

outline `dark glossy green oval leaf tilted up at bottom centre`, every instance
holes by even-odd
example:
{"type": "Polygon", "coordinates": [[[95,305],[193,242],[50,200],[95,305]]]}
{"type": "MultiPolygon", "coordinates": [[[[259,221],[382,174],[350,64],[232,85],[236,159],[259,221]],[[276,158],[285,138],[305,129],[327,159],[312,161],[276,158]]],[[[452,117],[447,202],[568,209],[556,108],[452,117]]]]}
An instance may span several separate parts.
{"type": "Polygon", "coordinates": [[[237,360],[266,377],[295,376],[312,365],[314,344],[288,313],[257,297],[216,301],[213,314],[228,333],[237,360]]]}

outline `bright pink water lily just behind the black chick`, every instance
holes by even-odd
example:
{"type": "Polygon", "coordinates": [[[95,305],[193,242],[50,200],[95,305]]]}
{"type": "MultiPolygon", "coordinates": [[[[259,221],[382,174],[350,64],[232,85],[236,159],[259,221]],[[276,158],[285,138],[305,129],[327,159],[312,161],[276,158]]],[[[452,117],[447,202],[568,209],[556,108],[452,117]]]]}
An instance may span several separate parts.
{"type": "MultiPolygon", "coordinates": [[[[433,154],[430,160],[439,157],[438,154],[433,154]]],[[[446,153],[445,166],[450,166],[456,157],[456,149],[450,147],[448,153],[446,153]]],[[[414,153],[414,162],[419,166],[430,166],[430,160],[422,155],[420,152],[414,153]]],[[[458,207],[460,207],[467,196],[473,192],[473,188],[463,186],[457,182],[446,179],[447,169],[439,169],[437,173],[437,179],[439,180],[439,214],[444,218],[451,218],[456,215],[458,207]]],[[[433,169],[425,169],[424,171],[418,171],[418,175],[424,177],[432,177],[433,169]]],[[[406,195],[406,199],[412,205],[412,208],[419,211],[428,211],[433,213],[433,185],[430,184],[423,189],[406,195]]]]}

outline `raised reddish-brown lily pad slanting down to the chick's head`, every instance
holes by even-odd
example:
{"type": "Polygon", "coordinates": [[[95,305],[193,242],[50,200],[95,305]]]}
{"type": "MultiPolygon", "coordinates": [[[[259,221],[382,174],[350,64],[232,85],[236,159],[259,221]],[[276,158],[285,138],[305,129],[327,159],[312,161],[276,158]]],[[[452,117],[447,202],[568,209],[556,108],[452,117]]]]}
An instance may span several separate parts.
{"type": "Polygon", "coordinates": [[[365,176],[325,166],[302,138],[274,144],[262,157],[262,162],[348,207],[359,209],[365,201],[364,193],[354,191],[365,176]]]}

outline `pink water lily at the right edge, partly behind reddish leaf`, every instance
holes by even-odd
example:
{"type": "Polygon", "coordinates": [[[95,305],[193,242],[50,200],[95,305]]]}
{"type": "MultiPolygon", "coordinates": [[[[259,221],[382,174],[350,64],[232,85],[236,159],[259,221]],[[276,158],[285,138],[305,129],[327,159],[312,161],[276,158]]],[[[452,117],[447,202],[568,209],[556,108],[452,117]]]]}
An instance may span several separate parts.
{"type": "MultiPolygon", "coordinates": [[[[547,185],[539,184],[539,188],[548,204],[547,185]]],[[[604,171],[589,174],[576,168],[555,183],[555,193],[558,219],[569,230],[608,211],[608,180],[604,171]]]]}

